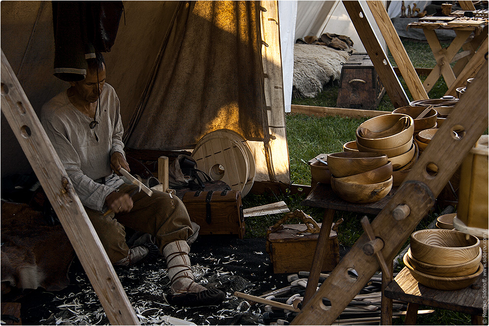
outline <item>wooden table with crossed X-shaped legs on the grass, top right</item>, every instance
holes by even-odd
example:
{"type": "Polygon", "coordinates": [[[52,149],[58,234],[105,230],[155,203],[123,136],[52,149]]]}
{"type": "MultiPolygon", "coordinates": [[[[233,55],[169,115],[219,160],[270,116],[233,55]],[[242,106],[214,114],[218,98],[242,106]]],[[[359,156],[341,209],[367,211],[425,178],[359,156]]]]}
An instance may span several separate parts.
{"type": "MultiPolygon", "coordinates": [[[[488,34],[487,23],[488,20],[483,18],[469,19],[465,17],[449,16],[425,17],[420,19],[419,22],[411,22],[407,25],[408,28],[422,28],[424,35],[426,36],[426,41],[428,42],[437,63],[423,83],[426,92],[431,90],[440,76],[443,76],[446,86],[449,89],[447,94],[452,93],[450,95],[454,95],[455,87],[466,85],[467,78],[473,76],[469,75],[467,77],[466,74],[462,74],[465,66],[471,60],[474,60],[471,65],[475,65],[475,67],[480,68],[480,65],[482,65],[482,62],[479,64],[482,57],[475,57],[475,52],[481,44],[485,46],[484,49],[487,49],[487,45],[485,45],[487,44],[488,34]],[[485,26],[486,28],[484,28],[485,26]],[[437,29],[451,29],[455,31],[457,36],[448,47],[442,48],[435,32],[437,29]],[[469,38],[472,33],[475,33],[475,37],[470,41],[469,38]],[[464,48],[464,51],[458,53],[461,47],[464,48]],[[460,59],[462,59],[460,64],[456,64],[452,69],[450,63],[459,61],[460,59]]],[[[467,70],[471,71],[475,69],[467,70]]]]}

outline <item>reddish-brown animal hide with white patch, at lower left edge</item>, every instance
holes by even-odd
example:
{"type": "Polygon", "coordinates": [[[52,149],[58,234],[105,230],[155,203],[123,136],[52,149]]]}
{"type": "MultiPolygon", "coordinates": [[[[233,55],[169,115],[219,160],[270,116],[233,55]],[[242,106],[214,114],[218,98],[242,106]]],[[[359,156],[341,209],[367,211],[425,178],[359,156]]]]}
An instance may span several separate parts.
{"type": "Polygon", "coordinates": [[[61,225],[49,226],[43,213],[27,204],[1,203],[1,283],[21,289],[65,288],[75,256],[61,225]]]}

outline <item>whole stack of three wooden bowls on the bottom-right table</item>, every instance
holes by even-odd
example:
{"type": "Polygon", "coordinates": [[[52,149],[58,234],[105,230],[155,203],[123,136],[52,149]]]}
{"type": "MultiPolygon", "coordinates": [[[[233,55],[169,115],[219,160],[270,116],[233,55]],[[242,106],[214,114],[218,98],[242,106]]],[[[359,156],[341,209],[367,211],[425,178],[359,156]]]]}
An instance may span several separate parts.
{"type": "Polygon", "coordinates": [[[419,283],[440,290],[458,290],[482,273],[477,237],[455,230],[426,229],[411,235],[404,265],[419,283]]]}

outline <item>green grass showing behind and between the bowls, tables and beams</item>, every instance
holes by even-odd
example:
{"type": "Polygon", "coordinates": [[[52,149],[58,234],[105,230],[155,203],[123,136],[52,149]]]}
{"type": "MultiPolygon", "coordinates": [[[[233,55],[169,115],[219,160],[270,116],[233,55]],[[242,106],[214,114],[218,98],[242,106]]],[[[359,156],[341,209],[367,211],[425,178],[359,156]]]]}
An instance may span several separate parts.
{"type": "MultiPolygon", "coordinates": [[[[427,43],[403,41],[404,47],[415,67],[431,68],[436,62],[427,43]]],[[[448,44],[442,44],[446,46],[448,44]]],[[[389,60],[392,65],[395,62],[389,53],[389,60]]],[[[422,81],[424,77],[422,78],[422,81]]],[[[410,100],[412,96],[402,78],[400,78],[402,87],[410,100]]],[[[447,87],[443,78],[428,93],[430,98],[439,98],[445,94],[447,87]]],[[[323,91],[315,98],[293,97],[292,104],[319,106],[319,107],[336,107],[336,98],[338,95],[338,83],[330,82],[323,91]]],[[[390,102],[389,96],[384,95],[378,110],[392,111],[394,107],[390,102]]],[[[342,117],[315,117],[304,114],[287,114],[287,140],[289,145],[290,158],[290,177],[294,184],[309,185],[311,183],[311,173],[308,161],[320,153],[342,152],[344,143],[355,140],[355,130],[357,126],[366,119],[342,118],[342,117]]],[[[259,206],[271,202],[284,200],[289,206],[290,211],[300,209],[306,214],[311,215],[317,221],[320,221],[323,211],[317,208],[311,208],[301,205],[305,196],[290,196],[289,194],[280,195],[251,195],[248,194],[244,200],[244,208],[259,206]]],[[[433,219],[435,219],[442,208],[436,208],[422,219],[416,229],[426,228],[433,219]]],[[[268,215],[264,217],[250,217],[246,220],[246,237],[266,237],[268,226],[275,224],[283,215],[268,215]]],[[[343,218],[344,222],[338,228],[338,241],[345,247],[351,247],[358,237],[363,233],[359,220],[362,216],[337,211],[334,219],[343,218]]],[[[369,216],[372,220],[374,216],[369,216]]],[[[405,245],[409,242],[406,241],[405,245]]],[[[400,265],[398,271],[402,267],[400,265]]],[[[420,307],[420,309],[430,309],[429,307],[420,307]]],[[[402,319],[393,320],[394,325],[401,325],[402,319]]],[[[470,325],[470,316],[467,314],[456,313],[453,311],[436,309],[435,313],[418,316],[419,325],[470,325]]]]}

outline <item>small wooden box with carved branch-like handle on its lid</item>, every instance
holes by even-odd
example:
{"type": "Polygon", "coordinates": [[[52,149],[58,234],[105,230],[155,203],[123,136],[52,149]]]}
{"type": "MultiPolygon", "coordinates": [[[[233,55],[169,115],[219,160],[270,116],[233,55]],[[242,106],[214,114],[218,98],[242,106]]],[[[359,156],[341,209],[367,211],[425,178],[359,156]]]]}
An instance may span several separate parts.
{"type": "MultiPolygon", "coordinates": [[[[322,223],[317,223],[321,226],[322,223]]],[[[267,236],[267,252],[273,264],[274,273],[297,273],[309,271],[312,266],[314,250],[319,233],[301,233],[305,224],[283,224],[284,228],[267,236]]],[[[339,262],[338,236],[330,232],[329,248],[326,252],[321,271],[332,271],[339,262]]]]}

